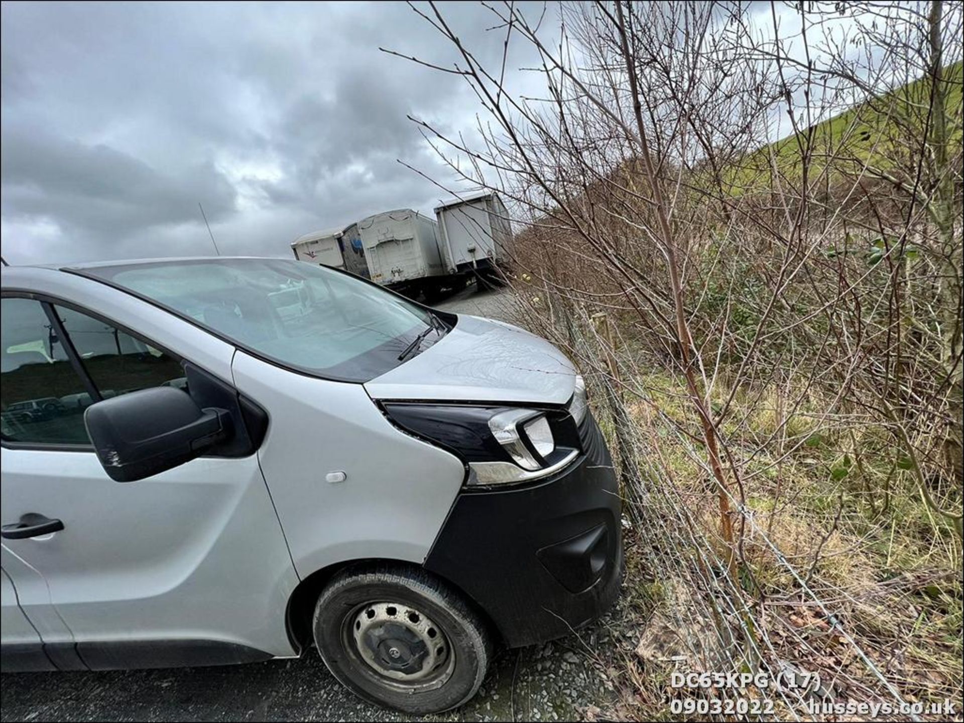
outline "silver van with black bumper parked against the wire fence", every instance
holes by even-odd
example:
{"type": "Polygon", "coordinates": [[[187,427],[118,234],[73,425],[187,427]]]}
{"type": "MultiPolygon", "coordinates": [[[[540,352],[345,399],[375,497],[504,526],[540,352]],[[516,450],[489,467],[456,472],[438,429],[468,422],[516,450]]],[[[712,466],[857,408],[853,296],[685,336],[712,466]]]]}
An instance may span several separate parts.
{"type": "Polygon", "coordinates": [[[314,645],[424,713],[618,594],[585,387],[516,326],[262,258],[6,268],[2,312],[4,671],[314,645]]]}

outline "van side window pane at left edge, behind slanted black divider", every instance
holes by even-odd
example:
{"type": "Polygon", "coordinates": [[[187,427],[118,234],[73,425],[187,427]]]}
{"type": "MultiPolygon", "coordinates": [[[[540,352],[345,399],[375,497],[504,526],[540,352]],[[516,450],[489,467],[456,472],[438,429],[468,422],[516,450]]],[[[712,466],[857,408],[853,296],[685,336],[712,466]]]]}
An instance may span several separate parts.
{"type": "Polygon", "coordinates": [[[40,301],[0,301],[0,431],[13,442],[89,444],[84,382],[40,301]]]}

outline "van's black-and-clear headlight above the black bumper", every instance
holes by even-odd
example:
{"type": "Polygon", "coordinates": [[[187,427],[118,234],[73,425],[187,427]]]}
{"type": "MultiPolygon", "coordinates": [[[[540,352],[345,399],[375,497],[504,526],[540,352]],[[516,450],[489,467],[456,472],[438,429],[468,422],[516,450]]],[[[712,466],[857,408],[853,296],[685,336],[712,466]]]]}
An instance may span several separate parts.
{"type": "Polygon", "coordinates": [[[549,477],[579,453],[570,409],[386,403],[388,418],[463,460],[473,486],[549,477]]]}

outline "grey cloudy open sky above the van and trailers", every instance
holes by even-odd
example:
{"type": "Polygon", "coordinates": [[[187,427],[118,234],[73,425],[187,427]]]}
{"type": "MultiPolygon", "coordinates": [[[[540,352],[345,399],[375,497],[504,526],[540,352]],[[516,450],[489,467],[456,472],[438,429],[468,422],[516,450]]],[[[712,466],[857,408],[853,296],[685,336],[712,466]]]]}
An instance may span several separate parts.
{"type": "MultiPolygon", "coordinates": [[[[497,57],[488,11],[443,9],[497,57]]],[[[470,130],[454,50],[404,3],[4,3],[2,240],[13,264],[288,254],[300,234],[445,184],[406,116],[470,130]]],[[[522,78],[522,74],[520,74],[522,78]]],[[[526,82],[523,78],[520,81],[526,82]]]]}

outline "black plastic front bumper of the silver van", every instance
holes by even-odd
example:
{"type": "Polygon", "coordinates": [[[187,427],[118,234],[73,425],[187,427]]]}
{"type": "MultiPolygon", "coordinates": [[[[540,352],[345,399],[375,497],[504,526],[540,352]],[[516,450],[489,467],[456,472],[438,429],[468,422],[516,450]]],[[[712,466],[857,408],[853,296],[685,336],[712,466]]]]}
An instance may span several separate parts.
{"type": "Polygon", "coordinates": [[[463,492],[425,560],[482,607],[509,647],[571,633],[619,595],[620,498],[591,415],[582,454],[529,486],[463,492]]]}

